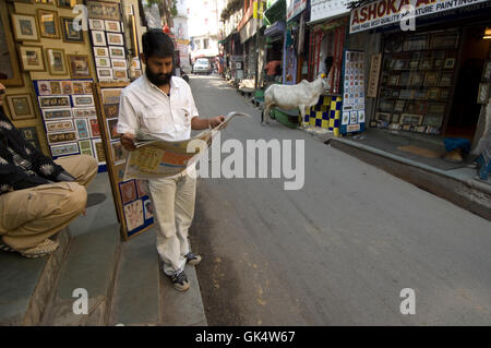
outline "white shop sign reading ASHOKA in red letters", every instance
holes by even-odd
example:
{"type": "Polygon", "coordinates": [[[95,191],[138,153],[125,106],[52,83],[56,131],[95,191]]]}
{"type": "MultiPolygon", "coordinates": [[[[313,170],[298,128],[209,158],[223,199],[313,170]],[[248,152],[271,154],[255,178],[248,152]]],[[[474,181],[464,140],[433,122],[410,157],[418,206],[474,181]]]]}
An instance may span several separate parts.
{"type": "Polygon", "coordinates": [[[379,0],[351,11],[349,33],[358,33],[374,27],[398,23],[410,17],[438,14],[448,10],[468,7],[488,0],[379,0]],[[414,10],[405,11],[406,5],[414,10]]]}

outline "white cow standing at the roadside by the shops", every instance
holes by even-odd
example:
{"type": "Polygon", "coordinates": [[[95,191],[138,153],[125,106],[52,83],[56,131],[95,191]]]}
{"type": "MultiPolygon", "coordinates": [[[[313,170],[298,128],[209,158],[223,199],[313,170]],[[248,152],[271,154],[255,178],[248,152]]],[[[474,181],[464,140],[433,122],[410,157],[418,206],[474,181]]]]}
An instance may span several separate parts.
{"type": "Polygon", "coordinates": [[[324,91],[331,89],[330,77],[321,74],[312,82],[302,80],[296,85],[271,85],[264,92],[264,108],[261,113],[261,123],[270,123],[270,111],[275,106],[285,110],[298,108],[302,116],[301,125],[304,127],[306,109],[318,104],[319,97],[324,91]]]}

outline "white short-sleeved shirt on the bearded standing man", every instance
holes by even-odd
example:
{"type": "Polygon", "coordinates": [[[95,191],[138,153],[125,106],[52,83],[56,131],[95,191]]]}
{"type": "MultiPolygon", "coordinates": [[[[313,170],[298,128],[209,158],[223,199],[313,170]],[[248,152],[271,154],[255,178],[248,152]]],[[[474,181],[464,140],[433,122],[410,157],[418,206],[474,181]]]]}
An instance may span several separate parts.
{"type": "Polygon", "coordinates": [[[196,116],[191,87],[184,80],[172,76],[167,96],[143,74],[121,92],[117,132],[136,134],[141,130],[166,141],[188,140],[196,116]]]}

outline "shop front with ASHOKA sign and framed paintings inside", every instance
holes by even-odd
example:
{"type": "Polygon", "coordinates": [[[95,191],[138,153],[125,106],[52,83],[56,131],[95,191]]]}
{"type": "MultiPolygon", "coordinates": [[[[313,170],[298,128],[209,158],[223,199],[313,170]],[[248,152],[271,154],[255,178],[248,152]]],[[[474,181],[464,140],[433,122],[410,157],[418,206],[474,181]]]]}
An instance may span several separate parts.
{"type": "Polygon", "coordinates": [[[372,34],[364,40],[371,45],[366,47],[370,125],[476,145],[490,117],[491,1],[418,2],[412,24],[397,20],[398,4],[372,1],[351,11],[350,41],[362,46],[372,34]],[[414,31],[402,29],[407,27],[414,31]]]}

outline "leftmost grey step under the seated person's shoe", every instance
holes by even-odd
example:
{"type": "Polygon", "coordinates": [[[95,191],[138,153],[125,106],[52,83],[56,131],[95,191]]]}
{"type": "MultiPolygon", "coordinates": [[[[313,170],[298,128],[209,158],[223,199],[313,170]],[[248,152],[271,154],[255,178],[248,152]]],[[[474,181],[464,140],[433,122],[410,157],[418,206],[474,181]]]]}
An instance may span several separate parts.
{"type": "Polygon", "coordinates": [[[0,325],[38,325],[47,310],[70,244],[70,231],[53,238],[60,247],[49,256],[26,259],[0,252],[0,325]]]}

